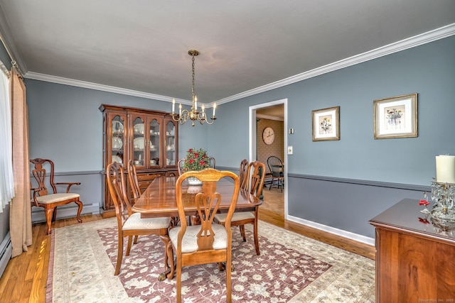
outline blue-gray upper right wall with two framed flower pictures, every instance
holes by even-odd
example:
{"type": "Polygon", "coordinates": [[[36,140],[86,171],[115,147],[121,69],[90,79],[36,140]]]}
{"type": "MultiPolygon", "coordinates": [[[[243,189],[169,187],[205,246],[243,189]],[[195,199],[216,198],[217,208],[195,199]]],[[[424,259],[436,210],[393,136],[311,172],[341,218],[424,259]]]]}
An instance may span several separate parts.
{"type": "MultiPolygon", "coordinates": [[[[248,155],[249,106],[288,99],[289,173],[429,185],[435,155],[455,154],[455,36],[220,106],[217,165],[248,155]],[[373,100],[418,94],[417,138],[373,138],[373,100]],[[340,106],[340,141],[312,142],[311,111],[340,106]],[[218,161],[220,159],[220,161],[218,161]]],[[[289,189],[291,190],[291,189],[289,189]]]]}

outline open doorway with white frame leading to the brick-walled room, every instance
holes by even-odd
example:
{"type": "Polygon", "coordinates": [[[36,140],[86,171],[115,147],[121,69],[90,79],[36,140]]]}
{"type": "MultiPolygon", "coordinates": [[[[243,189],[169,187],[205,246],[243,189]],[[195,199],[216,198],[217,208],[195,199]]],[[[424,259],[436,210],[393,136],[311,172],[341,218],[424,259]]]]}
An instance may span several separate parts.
{"type": "MultiPolygon", "coordinates": [[[[250,162],[259,160],[269,172],[267,158],[275,155],[286,165],[287,161],[287,99],[270,101],[250,106],[250,162]],[[263,131],[267,133],[263,138],[263,131]],[[274,134],[274,140],[267,139],[269,131],[274,134]]],[[[286,166],[285,166],[286,167],[286,166]]],[[[287,218],[287,170],[284,170],[284,188],[276,185],[269,189],[269,176],[266,175],[266,187],[263,189],[264,209],[270,209],[287,218]]]]}

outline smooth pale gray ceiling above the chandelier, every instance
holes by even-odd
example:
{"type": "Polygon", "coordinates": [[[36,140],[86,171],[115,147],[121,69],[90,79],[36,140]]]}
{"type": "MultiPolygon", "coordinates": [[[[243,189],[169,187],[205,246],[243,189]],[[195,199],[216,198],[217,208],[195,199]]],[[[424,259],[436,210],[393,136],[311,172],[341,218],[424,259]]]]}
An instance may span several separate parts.
{"type": "Polygon", "coordinates": [[[455,23],[454,0],[0,0],[0,33],[31,79],[203,103],[455,23]]]}

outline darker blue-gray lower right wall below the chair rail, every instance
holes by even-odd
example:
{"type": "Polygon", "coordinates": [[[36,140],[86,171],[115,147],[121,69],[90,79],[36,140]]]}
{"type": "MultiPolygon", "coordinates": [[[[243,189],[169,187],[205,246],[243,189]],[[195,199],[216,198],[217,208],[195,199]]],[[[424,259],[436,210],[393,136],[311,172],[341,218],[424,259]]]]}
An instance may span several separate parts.
{"type": "MultiPolygon", "coordinates": [[[[402,199],[423,199],[430,187],[343,178],[289,175],[291,217],[375,238],[370,219],[402,199]]],[[[419,214],[416,214],[418,220],[419,214]]]]}

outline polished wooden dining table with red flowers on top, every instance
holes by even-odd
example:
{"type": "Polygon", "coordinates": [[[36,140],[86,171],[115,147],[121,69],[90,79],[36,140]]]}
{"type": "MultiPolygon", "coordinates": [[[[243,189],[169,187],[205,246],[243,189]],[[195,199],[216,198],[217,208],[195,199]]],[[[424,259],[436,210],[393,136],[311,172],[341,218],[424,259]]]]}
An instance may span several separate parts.
{"type": "MultiPolygon", "coordinates": [[[[174,176],[159,176],[156,177],[149,187],[137,199],[137,202],[132,206],[132,211],[141,214],[141,218],[156,218],[162,216],[178,217],[178,207],[176,200],[176,182],[178,177],[174,176]]],[[[182,198],[185,205],[185,214],[193,216],[197,214],[197,206],[195,197],[202,189],[201,186],[190,186],[187,181],[182,183],[182,198]]],[[[217,192],[221,194],[222,200],[218,208],[219,211],[228,211],[234,184],[227,179],[221,179],[217,182],[217,192]]],[[[262,201],[255,195],[240,189],[237,197],[237,205],[235,211],[254,211],[256,206],[262,204],[262,201]]],[[[172,227],[172,226],[171,226],[172,227]]],[[[167,277],[169,280],[173,278],[175,272],[175,262],[173,260],[173,251],[171,241],[166,237],[161,237],[165,243],[165,272],[163,272],[159,280],[164,280],[167,277]],[[169,264],[168,264],[169,262],[169,264]],[[167,266],[168,264],[168,266],[167,266]]]]}

